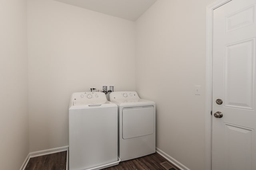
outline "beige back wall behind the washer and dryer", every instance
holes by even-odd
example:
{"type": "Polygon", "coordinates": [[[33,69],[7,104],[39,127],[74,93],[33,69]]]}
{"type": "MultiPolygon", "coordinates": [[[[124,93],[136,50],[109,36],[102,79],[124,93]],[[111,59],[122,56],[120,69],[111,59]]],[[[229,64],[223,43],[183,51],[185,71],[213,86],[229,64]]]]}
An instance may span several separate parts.
{"type": "Polygon", "coordinates": [[[68,145],[73,92],[135,90],[135,23],[53,0],[28,0],[30,152],[68,145]]]}

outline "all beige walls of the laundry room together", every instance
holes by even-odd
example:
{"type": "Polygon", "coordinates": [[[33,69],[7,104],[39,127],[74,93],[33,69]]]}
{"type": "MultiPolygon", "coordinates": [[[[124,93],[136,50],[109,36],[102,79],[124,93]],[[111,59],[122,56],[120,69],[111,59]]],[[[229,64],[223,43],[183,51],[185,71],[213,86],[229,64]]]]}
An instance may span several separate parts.
{"type": "Polygon", "coordinates": [[[28,0],[28,58],[26,0],[1,2],[1,168],[20,168],[28,150],[68,145],[70,94],[107,84],[154,100],[158,149],[203,170],[206,6],[214,1],[158,0],[134,23],[28,0]]]}

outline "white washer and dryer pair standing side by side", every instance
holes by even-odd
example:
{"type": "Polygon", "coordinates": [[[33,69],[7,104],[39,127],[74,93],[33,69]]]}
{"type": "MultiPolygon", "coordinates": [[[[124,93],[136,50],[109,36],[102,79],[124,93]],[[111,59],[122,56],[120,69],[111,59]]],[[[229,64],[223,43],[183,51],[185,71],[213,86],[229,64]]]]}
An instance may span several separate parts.
{"type": "Polygon", "coordinates": [[[156,152],[155,103],[136,92],[73,93],[69,169],[99,170],[156,152]],[[119,158],[118,158],[119,157],[119,158]]]}

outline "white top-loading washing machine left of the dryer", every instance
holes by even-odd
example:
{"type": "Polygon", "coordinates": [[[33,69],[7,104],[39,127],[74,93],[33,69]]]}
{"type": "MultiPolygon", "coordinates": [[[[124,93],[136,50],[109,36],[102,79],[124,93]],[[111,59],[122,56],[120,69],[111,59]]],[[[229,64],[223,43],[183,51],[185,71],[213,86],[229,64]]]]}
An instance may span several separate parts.
{"type": "Polygon", "coordinates": [[[72,94],[69,104],[70,170],[99,170],[120,162],[117,109],[102,92],[72,94]]]}

